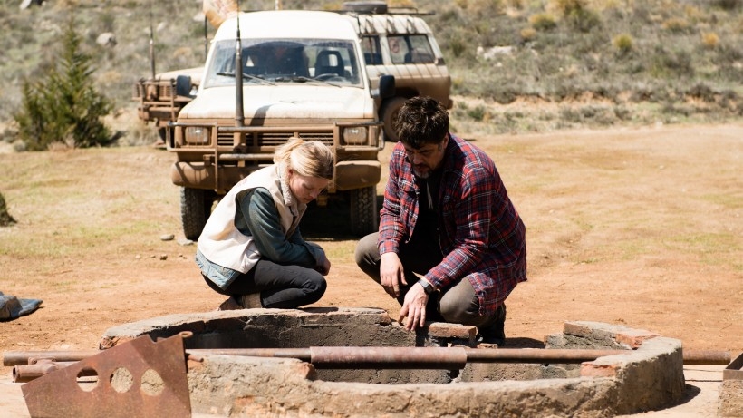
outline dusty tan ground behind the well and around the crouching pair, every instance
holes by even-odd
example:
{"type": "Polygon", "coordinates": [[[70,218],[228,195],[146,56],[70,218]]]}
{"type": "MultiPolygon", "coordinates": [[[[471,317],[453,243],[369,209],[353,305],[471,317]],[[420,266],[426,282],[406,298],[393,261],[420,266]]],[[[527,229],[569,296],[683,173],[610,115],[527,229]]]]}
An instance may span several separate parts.
{"type": "MultiPolygon", "coordinates": [[[[475,139],[527,228],[529,280],[507,299],[508,340],[542,341],[587,320],[743,350],[741,139],[739,124],[475,139]]],[[[0,153],[0,193],[18,221],[0,228],[0,291],[43,299],[32,315],[0,322],[0,352],[97,348],[111,326],[222,302],[199,276],[194,246],[179,243],[172,160],[149,146],[0,153]]],[[[333,263],[317,305],[396,317],[353,264],[343,205],[304,220],[333,263]]]]}

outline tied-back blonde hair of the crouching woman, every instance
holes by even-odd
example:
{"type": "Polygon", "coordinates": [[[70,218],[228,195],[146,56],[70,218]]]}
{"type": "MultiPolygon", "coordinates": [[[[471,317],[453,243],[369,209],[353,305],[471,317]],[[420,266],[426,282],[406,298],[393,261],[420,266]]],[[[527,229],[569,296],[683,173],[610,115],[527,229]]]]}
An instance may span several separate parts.
{"type": "Polygon", "coordinates": [[[276,149],[274,162],[284,163],[287,169],[302,176],[333,180],[335,154],[321,141],[292,138],[276,149]]]}

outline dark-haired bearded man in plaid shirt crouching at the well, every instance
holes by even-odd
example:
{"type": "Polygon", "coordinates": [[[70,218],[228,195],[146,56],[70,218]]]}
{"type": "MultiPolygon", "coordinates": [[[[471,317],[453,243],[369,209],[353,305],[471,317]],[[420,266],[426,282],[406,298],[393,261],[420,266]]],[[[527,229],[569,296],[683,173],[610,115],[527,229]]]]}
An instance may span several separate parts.
{"type": "Polygon", "coordinates": [[[356,263],[398,300],[409,330],[443,320],[503,345],[504,301],[526,281],[526,228],[496,165],[449,133],[433,99],[405,102],[394,127],[379,232],[359,241],[356,263]]]}

